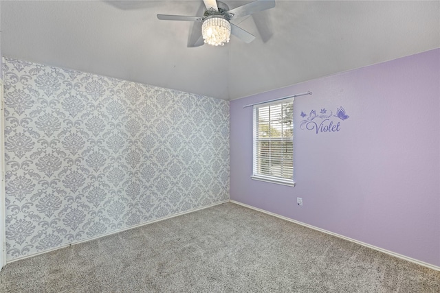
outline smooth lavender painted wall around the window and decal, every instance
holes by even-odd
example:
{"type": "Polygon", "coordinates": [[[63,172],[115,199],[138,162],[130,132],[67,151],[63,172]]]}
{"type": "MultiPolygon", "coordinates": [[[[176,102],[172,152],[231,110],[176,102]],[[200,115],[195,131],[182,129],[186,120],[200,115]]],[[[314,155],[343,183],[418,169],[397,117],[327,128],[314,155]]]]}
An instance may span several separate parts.
{"type": "Polygon", "coordinates": [[[434,49],[231,101],[230,199],[440,266],[439,97],[434,49]],[[296,187],[251,180],[243,105],[305,91],[294,102],[296,187]],[[339,132],[300,129],[302,112],[341,106],[339,132]]]}

